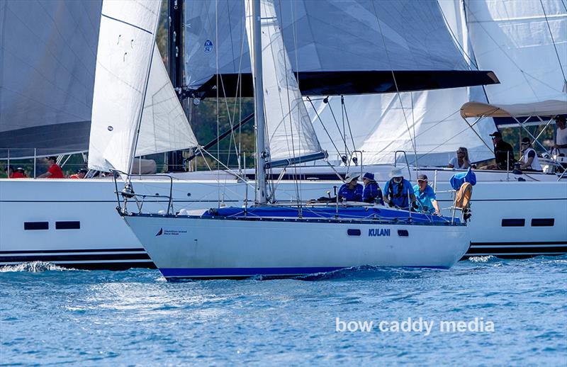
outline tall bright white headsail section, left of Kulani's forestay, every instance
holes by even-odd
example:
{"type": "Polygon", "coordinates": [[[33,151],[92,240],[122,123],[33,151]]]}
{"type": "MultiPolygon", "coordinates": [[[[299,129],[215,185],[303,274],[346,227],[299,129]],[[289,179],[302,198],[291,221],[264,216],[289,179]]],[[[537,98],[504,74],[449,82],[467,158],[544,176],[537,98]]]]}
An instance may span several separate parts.
{"type": "Polygon", "coordinates": [[[161,1],[104,1],[96,57],[89,168],[128,172],[161,1]]]}

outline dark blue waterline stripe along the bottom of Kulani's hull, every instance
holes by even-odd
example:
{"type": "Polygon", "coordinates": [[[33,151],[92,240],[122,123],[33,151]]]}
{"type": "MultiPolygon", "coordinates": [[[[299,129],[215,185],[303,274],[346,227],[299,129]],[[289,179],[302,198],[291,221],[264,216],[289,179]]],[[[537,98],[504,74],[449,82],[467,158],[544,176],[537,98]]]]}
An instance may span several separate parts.
{"type": "MultiPolygon", "coordinates": [[[[448,269],[447,266],[407,266],[408,268],[448,269]]],[[[160,268],[166,278],[199,278],[199,277],[235,277],[235,276],[298,276],[303,274],[326,273],[347,266],[315,267],[315,268],[160,268]]]]}

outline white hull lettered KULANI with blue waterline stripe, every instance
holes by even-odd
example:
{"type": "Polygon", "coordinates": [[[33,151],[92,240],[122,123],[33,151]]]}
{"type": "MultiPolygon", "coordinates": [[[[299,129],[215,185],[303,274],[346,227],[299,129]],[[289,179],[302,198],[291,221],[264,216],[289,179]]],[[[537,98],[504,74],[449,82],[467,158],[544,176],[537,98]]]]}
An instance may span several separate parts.
{"type": "Polygon", "coordinates": [[[300,276],[363,265],[449,269],[470,241],[465,225],[167,215],[124,219],[168,280],[300,276]]]}

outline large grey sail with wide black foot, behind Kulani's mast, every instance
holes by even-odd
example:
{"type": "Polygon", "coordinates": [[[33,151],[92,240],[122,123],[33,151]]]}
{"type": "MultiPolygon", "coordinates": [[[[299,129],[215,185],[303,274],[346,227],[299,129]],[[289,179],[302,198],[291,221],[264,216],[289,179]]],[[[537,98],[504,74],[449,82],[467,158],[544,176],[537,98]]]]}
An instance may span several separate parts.
{"type": "MultiPolygon", "coordinates": [[[[195,96],[234,96],[239,91],[251,95],[243,7],[238,0],[187,4],[186,77],[195,96]]],[[[469,69],[435,0],[330,0],[324,6],[319,1],[275,0],[274,9],[303,95],[415,91],[496,81],[491,73],[469,69]]]]}

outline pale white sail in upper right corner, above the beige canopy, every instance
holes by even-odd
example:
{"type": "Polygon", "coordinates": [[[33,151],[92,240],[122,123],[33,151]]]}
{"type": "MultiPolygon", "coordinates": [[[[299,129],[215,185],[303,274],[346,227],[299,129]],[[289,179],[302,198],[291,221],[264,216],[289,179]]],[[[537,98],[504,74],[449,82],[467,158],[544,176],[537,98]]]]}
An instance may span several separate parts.
{"type": "Polygon", "coordinates": [[[478,67],[500,79],[490,103],[567,103],[564,0],[468,1],[468,26],[478,67]]]}

